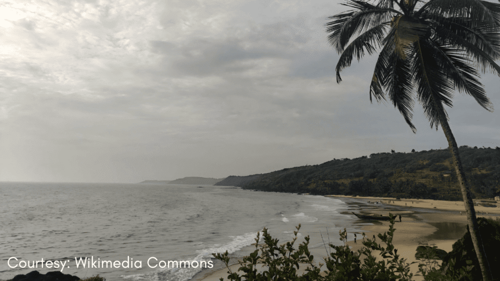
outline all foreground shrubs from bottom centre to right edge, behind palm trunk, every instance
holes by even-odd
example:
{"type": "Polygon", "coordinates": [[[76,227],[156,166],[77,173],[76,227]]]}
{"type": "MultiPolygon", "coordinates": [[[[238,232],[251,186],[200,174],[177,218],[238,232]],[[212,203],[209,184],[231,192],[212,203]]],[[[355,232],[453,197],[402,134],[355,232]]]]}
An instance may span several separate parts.
{"type": "MultiPolygon", "coordinates": [[[[496,249],[500,245],[500,223],[482,217],[478,218],[478,221],[481,231],[488,231],[492,234],[484,240],[488,248],[489,263],[498,264],[500,255],[496,249]]],[[[321,261],[308,249],[309,236],[304,237],[305,240],[295,248],[299,228],[300,224],[297,226],[297,231],[293,232],[295,237],[281,245],[278,244],[278,239],[272,238],[264,228],[262,239],[257,233],[255,250],[238,261],[239,268],[234,272],[229,267],[227,251],[213,253],[213,256],[227,266],[229,269],[227,280],[231,281],[411,281],[414,280],[413,276],[417,275],[423,276],[425,281],[482,280],[468,231],[453,244],[453,250],[449,253],[437,249],[435,245],[418,246],[424,248],[418,257],[415,255],[419,260],[419,270],[411,272],[409,265],[415,262],[406,262],[406,259],[400,257],[392,244],[396,230],[394,219],[390,220],[387,232],[377,235],[378,241],[382,243],[377,243],[375,238],[371,239],[363,233],[361,241],[363,247],[355,252],[345,243],[347,231],[344,228],[343,231],[339,231],[340,240],[344,244],[340,246],[330,244],[329,255],[321,261]],[[442,257],[438,256],[440,251],[444,252],[442,257]],[[383,259],[377,260],[376,255],[380,255],[383,259]],[[442,259],[442,263],[439,264],[437,259],[442,259]],[[326,268],[323,267],[323,269],[326,270],[321,271],[322,265],[325,265],[326,268]]],[[[499,276],[500,270],[495,267],[492,273],[494,277],[499,276]]],[[[224,278],[220,280],[224,281],[224,278]]]]}

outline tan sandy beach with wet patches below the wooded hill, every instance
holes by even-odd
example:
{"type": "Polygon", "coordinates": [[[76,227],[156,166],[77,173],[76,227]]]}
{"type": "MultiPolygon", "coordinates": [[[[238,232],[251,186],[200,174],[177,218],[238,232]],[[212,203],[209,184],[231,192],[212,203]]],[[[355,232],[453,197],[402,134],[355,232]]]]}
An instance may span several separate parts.
{"type": "MultiPolygon", "coordinates": [[[[393,244],[398,250],[400,257],[406,258],[407,262],[417,261],[415,259],[416,247],[419,243],[435,244],[438,248],[445,251],[451,251],[452,244],[459,239],[466,227],[466,217],[464,214],[463,202],[460,201],[439,201],[427,199],[399,199],[396,198],[381,198],[381,197],[352,197],[341,195],[327,195],[331,197],[343,198],[348,204],[359,207],[359,213],[383,214],[388,212],[401,215],[402,219],[396,220],[394,227],[393,244]],[[378,203],[374,203],[378,202],[378,203]],[[460,211],[462,212],[460,214],[460,211]]],[[[477,216],[485,216],[489,218],[498,217],[500,213],[499,207],[475,207],[477,216]],[[487,213],[486,213],[487,212],[487,213]]],[[[347,212],[346,212],[347,213],[347,212]]],[[[359,220],[354,229],[347,229],[348,242],[347,244],[356,251],[362,247],[362,232],[365,232],[366,237],[376,236],[377,233],[388,231],[389,222],[379,221],[369,223],[367,220],[359,220]],[[357,241],[354,243],[353,235],[356,233],[357,241]]],[[[272,229],[270,229],[272,230],[272,229]]],[[[313,231],[314,232],[314,231],[313,231]]],[[[324,232],[324,231],[323,231],[324,232]]],[[[322,243],[320,233],[303,233],[309,235],[311,240],[309,250],[314,255],[316,263],[322,262],[323,258],[328,255],[330,249],[325,249],[322,243]]],[[[322,233],[324,235],[324,233],[322,233]]],[[[336,233],[330,233],[330,237],[336,233]]],[[[326,239],[326,236],[323,236],[326,239]]],[[[377,241],[379,239],[377,238],[377,241]]],[[[248,247],[248,252],[254,247],[248,247]]],[[[232,261],[232,260],[231,260],[232,261]]],[[[234,260],[235,262],[236,260],[234,260]]],[[[238,264],[233,264],[231,270],[237,271],[238,264]]],[[[418,263],[410,265],[411,272],[414,274],[418,271],[418,263]]],[[[322,268],[324,270],[324,266],[322,268]]],[[[205,272],[202,280],[214,281],[227,277],[227,268],[221,268],[212,272],[205,272]]],[[[421,276],[414,276],[414,280],[422,280],[421,276]]]]}

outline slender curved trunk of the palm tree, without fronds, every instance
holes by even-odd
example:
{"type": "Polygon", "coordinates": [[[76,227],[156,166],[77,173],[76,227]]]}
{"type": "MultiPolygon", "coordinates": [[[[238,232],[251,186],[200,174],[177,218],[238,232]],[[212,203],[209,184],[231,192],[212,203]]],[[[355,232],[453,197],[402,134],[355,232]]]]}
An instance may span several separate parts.
{"type": "Polygon", "coordinates": [[[491,270],[489,268],[488,259],[486,258],[486,253],[484,252],[484,246],[482,245],[477,218],[475,216],[474,203],[472,202],[470,189],[465,179],[465,173],[463,172],[462,162],[458,154],[458,146],[456,145],[455,137],[451,132],[451,128],[449,127],[446,117],[443,117],[443,115],[441,115],[439,118],[439,122],[441,123],[442,130],[444,131],[446,139],[448,140],[448,148],[451,152],[451,158],[453,159],[453,165],[455,166],[456,176],[458,179],[458,183],[460,184],[463,204],[465,205],[465,212],[467,214],[467,224],[469,226],[470,237],[472,238],[472,244],[474,245],[477,260],[479,261],[479,266],[481,267],[482,279],[483,281],[493,280],[493,277],[491,276],[491,270]]]}

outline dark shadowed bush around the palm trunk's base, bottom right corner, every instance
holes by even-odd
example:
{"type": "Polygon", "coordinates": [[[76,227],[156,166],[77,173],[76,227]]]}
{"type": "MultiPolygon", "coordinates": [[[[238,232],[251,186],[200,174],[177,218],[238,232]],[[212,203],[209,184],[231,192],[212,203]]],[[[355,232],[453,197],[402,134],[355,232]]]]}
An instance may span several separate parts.
{"type": "MultiPolygon", "coordinates": [[[[488,258],[488,263],[493,276],[500,276],[500,223],[483,217],[477,218],[482,244],[488,258]]],[[[475,254],[470,232],[467,232],[453,244],[453,250],[442,259],[442,273],[452,275],[461,272],[458,280],[482,280],[481,269],[475,254]],[[462,267],[466,270],[460,270],[462,267]]]]}

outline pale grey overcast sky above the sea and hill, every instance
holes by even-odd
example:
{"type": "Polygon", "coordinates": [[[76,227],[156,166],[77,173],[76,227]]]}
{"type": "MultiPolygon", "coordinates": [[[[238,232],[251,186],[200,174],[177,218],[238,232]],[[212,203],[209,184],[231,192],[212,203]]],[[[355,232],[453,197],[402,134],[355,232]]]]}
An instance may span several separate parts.
{"type": "MultiPolygon", "coordinates": [[[[0,181],[222,178],[447,147],[369,102],[376,56],[344,69],[339,0],[4,0],[0,181]]],[[[481,76],[500,107],[500,77],[481,76]]],[[[458,145],[500,146],[500,111],[456,93],[458,145]]]]}

